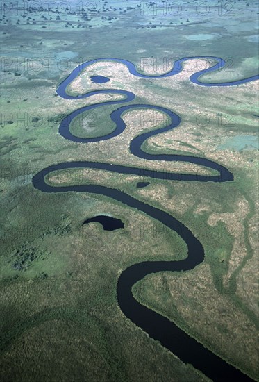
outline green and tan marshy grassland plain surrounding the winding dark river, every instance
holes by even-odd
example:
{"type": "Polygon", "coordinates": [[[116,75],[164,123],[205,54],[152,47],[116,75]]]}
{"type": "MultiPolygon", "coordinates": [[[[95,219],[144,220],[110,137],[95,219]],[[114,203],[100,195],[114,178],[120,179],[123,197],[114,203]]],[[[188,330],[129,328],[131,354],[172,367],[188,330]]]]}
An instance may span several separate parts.
{"type": "MultiPolygon", "coordinates": [[[[57,97],[56,86],[78,63],[99,57],[125,58],[156,74],[167,72],[172,58],[212,55],[229,58],[228,70],[204,81],[254,75],[253,16],[258,10],[253,1],[246,4],[237,1],[227,23],[212,12],[191,13],[189,22],[183,15],[141,14],[138,1],[131,2],[133,9],[122,1],[122,10],[109,1],[106,8],[111,10],[81,15],[73,15],[73,9],[31,15],[21,1],[18,14],[10,9],[1,17],[2,381],[206,381],[136,328],[117,306],[117,277],[123,269],[144,259],[183,258],[184,242],[137,210],[92,194],[44,194],[31,179],[53,163],[74,160],[210,173],[185,163],[147,162],[129,153],[128,144],[137,134],[165,122],[151,110],[126,113],[126,130],[112,140],[65,140],[58,135],[65,115],[121,97],[65,100],[57,97]],[[162,69],[156,65],[161,61],[162,69]],[[125,228],[107,232],[97,223],[82,226],[97,213],[112,213],[125,228]]],[[[200,88],[188,77],[197,65],[205,67],[203,61],[187,63],[179,76],[159,80],[131,76],[124,65],[98,65],[79,76],[69,91],[130,90],[137,96],[133,103],[173,110],[181,115],[181,126],[149,138],[144,149],[210,158],[230,169],[235,181],[169,182],[86,169],[52,174],[48,181],[119,188],[188,226],[205,248],[205,262],[186,274],[149,275],[135,285],[135,297],[258,379],[258,153],[246,143],[258,133],[258,84],[200,88]],[[91,74],[110,81],[94,84],[91,74]],[[150,182],[147,188],[135,187],[144,180],[150,182]]],[[[84,115],[72,131],[81,136],[111,131],[110,110],[84,115]]]]}

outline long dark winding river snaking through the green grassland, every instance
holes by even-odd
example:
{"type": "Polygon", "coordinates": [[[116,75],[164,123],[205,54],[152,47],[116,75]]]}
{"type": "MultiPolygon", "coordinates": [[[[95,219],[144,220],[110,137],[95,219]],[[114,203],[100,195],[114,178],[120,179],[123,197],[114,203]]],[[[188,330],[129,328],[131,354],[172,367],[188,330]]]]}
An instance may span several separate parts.
{"type": "MultiPolygon", "coordinates": [[[[197,57],[199,58],[199,57],[197,57]]],[[[201,83],[199,81],[199,76],[201,74],[205,74],[208,72],[214,72],[215,70],[223,67],[225,65],[225,61],[222,58],[215,57],[206,57],[208,59],[215,59],[217,64],[213,67],[205,69],[201,72],[192,74],[190,76],[190,81],[196,83],[198,85],[203,86],[230,86],[230,85],[239,85],[241,83],[247,83],[249,81],[253,81],[258,78],[258,76],[253,76],[250,78],[244,78],[243,80],[233,81],[230,83],[201,83]]],[[[181,72],[182,67],[181,64],[183,61],[188,58],[183,58],[181,60],[177,60],[174,63],[173,69],[167,73],[158,77],[167,77],[173,76],[181,72]]],[[[131,197],[125,192],[119,191],[114,188],[106,188],[100,185],[71,185],[65,187],[53,187],[48,185],[44,181],[44,177],[58,169],[70,169],[76,167],[84,167],[84,168],[97,168],[103,169],[110,172],[117,172],[120,174],[135,174],[140,176],[147,176],[151,178],[158,178],[161,181],[167,180],[177,180],[177,181],[213,181],[213,182],[225,182],[225,181],[233,181],[233,174],[218,163],[213,162],[212,160],[208,160],[206,158],[199,158],[193,156],[179,156],[179,155],[170,155],[170,154],[149,154],[142,151],[142,143],[147,140],[147,138],[156,135],[158,133],[162,133],[165,131],[169,131],[173,128],[176,128],[181,119],[176,113],[173,113],[171,110],[162,108],[160,106],[150,106],[146,104],[137,104],[137,105],[126,105],[114,110],[110,114],[110,118],[115,122],[116,128],[112,133],[105,135],[101,138],[77,138],[72,135],[69,131],[69,124],[72,122],[72,119],[76,117],[76,115],[83,113],[85,110],[90,110],[94,108],[99,108],[101,106],[105,106],[107,104],[119,104],[125,102],[131,102],[135,99],[135,94],[132,92],[128,92],[126,90],[95,90],[92,92],[88,92],[87,94],[79,95],[77,97],[73,97],[67,94],[66,88],[71,81],[81,72],[82,69],[91,65],[92,63],[96,63],[98,61],[105,60],[92,60],[83,65],[79,65],[73,72],[63,81],[57,92],[60,97],[65,99],[82,99],[91,97],[93,94],[106,94],[106,93],[114,93],[114,94],[124,94],[124,99],[121,101],[106,101],[103,103],[85,106],[79,110],[75,110],[73,113],[68,115],[60,124],[59,132],[64,138],[68,140],[72,140],[74,142],[99,142],[101,140],[108,140],[116,135],[119,135],[124,131],[125,124],[122,119],[122,113],[126,110],[130,110],[131,108],[152,108],[154,110],[160,110],[163,113],[166,113],[169,116],[171,122],[167,126],[163,126],[162,128],[158,128],[156,131],[150,131],[148,133],[143,133],[138,135],[131,141],[130,151],[133,155],[144,158],[146,160],[169,160],[169,161],[182,161],[182,162],[190,162],[196,163],[197,165],[205,166],[210,169],[216,170],[218,172],[217,175],[194,175],[194,174],[175,174],[172,172],[160,172],[160,171],[152,171],[147,169],[141,169],[136,167],[128,167],[122,165],[113,165],[110,163],[99,163],[99,162],[67,162],[67,163],[59,163],[57,165],[49,166],[45,169],[42,169],[38,174],[33,177],[33,185],[35,188],[43,191],[43,192],[89,192],[93,194],[101,194],[104,197],[109,197],[111,199],[116,200],[119,203],[122,203],[130,208],[134,208],[135,210],[142,211],[147,214],[149,217],[158,220],[162,224],[165,224],[169,229],[178,233],[179,236],[185,241],[187,244],[187,258],[183,260],[172,260],[172,261],[145,261],[142,263],[138,263],[132,265],[125,269],[122,274],[120,274],[118,283],[117,283],[117,300],[119,307],[126,317],[130,318],[132,322],[134,322],[137,326],[140,326],[144,331],[149,333],[151,338],[154,338],[161,342],[161,344],[170,351],[172,351],[176,356],[178,356],[183,362],[191,363],[194,367],[201,370],[204,374],[209,376],[214,381],[250,381],[248,376],[242,374],[240,370],[236,369],[232,365],[226,363],[222,358],[213,354],[211,351],[203,347],[203,345],[193,338],[190,335],[187,335],[184,331],[178,328],[174,324],[174,322],[169,321],[169,319],[162,317],[158,313],[153,312],[151,309],[142,306],[138,303],[131,292],[131,288],[133,285],[141,280],[147,274],[152,272],[161,272],[161,271],[170,271],[170,272],[186,272],[190,269],[194,269],[197,265],[201,264],[204,260],[204,249],[197,238],[194,237],[190,229],[188,229],[184,224],[179,222],[177,219],[165,213],[165,211],[160,210],[158,208],[154,208],[153,206],[149,206],[144,202],[131,197]]],[[[139,76],[142,78],[150,78],[150,76],[140,74],[135,69],[133,63],[130,63],[126,60],[121,59],[113,59],[109,58],[107,60],[124,63],[129,72],[135,76],[139,76]]],[[[149,182],[147,182],[149,183],[149,182]]],[[[140,187],[144,187],[144,182],[137,183],[140,184],[140,187]]],[[[93,218],[92,218],[93,219],[93,218]]],[[[89,222],[89,219],[86,221],[89,222]]]]}

